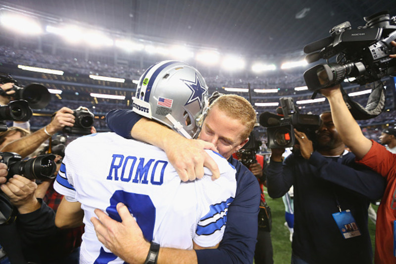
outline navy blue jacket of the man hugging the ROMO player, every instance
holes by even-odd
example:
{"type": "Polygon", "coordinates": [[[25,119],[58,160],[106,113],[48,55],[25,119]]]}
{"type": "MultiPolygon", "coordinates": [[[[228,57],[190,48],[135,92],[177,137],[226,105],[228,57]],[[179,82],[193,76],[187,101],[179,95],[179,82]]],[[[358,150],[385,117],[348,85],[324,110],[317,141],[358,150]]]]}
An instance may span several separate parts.
{"type": "MultiPolygon", "coordinates": [[[[140,115],[130,109],[112,110],[106,115],[110,130],[125,138],[131,138],[131,129],[140,118],[140,115]]],[[[251,264],[253,262],[260,187],[251,171],[241,162],[232,157],[228,161],[237,170],[235,199],[228,208],[223,240],[217,249],[197,250],[198,264],[251,264]]]]}

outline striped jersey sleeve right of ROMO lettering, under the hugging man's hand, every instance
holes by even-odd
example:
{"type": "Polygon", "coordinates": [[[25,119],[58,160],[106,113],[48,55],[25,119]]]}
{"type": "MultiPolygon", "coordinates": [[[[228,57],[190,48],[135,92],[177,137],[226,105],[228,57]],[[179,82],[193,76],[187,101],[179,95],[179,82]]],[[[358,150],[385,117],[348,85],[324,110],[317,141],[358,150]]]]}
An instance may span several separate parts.
{"type": "Polygon", "coordinates": [[[205,174],[199,180],[202,188],[201,193],[198,193],[200,215],[193,240],[201,247],[215,246],[223,239],[228,207],[235,198],[236,170],[226,159],[221,159],[215,159],[220,169],[220,178],[212,181],[210,175],[205,174]],[[221,159],[224,162],[219,162],[221,159]]]}

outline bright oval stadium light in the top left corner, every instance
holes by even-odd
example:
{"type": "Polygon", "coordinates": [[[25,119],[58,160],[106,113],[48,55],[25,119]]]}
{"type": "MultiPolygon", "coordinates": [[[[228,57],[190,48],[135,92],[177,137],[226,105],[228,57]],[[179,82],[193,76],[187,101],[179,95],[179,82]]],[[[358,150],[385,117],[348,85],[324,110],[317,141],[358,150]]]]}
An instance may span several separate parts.
{"type": "Polygon", "coordinates": [[[43,29],[39,22],[24,15],[4,14],[1,16],[1,24],[16,33],[26,35],[40,35],[43,29]]]}

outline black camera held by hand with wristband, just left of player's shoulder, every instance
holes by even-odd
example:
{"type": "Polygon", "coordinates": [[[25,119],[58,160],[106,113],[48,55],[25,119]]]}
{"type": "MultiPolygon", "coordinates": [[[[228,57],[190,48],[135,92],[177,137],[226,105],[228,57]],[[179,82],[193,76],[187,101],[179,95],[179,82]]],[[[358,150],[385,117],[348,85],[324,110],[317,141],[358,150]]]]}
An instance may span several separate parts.
{"type": "Polygon", "coordinates": [[[91,127],[94,124],[95,115],[84,106],[80,106],[73,111],[73,115],[76,117],[76,122],[73,127],[64,127],[63,131],[70,134],[91,134],[91,127]]]}

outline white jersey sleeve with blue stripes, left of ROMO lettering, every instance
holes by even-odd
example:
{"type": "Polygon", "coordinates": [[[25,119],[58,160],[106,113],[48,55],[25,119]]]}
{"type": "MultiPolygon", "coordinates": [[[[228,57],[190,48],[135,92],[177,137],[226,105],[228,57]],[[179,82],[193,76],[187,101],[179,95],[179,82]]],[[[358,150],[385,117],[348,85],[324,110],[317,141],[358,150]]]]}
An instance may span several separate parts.
{"type": "Polygon", "coordinates": [[[71,165],[70,156],[72,156],[71,148],[69,145],[65,151],[65,157],[63,158],[62,164],[56,175],[56,180],[53,183],[53,188],[58,193],[67,197],[69,202],[77,202],[76,200],[76,189],[74,188],[73,182],[73,168],[71,165]]]}

